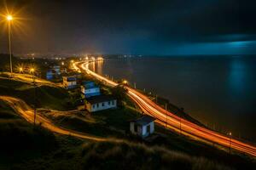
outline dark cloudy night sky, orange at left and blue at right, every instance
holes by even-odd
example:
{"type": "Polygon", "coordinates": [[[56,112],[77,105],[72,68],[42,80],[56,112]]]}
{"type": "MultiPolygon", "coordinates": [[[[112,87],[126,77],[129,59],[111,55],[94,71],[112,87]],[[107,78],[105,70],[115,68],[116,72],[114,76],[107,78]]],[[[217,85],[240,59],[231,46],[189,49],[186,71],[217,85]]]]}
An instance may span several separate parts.
{"type": "Polygon", "coordinates": [[[253,0],[2,0],[1,14],[6,7],[16,54],[256,54],[253,0]]]}

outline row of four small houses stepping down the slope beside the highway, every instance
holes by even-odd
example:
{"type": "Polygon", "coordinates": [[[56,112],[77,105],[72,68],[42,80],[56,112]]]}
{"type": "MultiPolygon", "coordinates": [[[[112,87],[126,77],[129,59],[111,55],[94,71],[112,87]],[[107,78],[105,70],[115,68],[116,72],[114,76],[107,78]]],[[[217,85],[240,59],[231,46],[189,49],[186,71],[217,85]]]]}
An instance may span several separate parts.
{"type": "MultiPolygon", "coordinates": [[[[77,77],[63,77],[63,85],[67,89],[77,88],[77,77]]],[[[90,113],[117,108],[117,99],[113,95],[101,94],[100,87],[95,82],[82,82],[80,92],[84,99],[84,109],[90,113]]],[[[142,138],[148,137],[154,133],[154,117],[142,116],[137,120],[132,120],[130,132],[142,138]]]]}

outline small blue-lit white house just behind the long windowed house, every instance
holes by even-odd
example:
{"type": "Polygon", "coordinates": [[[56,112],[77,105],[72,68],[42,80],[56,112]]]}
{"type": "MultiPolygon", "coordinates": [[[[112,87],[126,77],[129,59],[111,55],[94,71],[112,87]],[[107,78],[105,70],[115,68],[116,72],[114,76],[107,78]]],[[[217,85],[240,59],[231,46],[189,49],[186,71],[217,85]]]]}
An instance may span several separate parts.
{"type": "Polygon", "coordinates": [[[101,95],[100,88],[97,87],[94,82],[83,82],[83,85],[81,86],[81,93],[85,98],[101,95]]]}

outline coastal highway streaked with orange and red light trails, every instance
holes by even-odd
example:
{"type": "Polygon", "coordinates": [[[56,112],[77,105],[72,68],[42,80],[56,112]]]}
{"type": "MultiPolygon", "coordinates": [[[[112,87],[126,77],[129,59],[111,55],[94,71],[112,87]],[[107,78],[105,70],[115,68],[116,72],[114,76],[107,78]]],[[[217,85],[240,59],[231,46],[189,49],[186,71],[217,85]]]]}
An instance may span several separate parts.
{"type": "MultiPolygon", "coordinates": [[[[74,69],[77,71],[84,70],[96,79],[105,82],[108,86],[117,86],[117,82],[113,82],[106,77],[102,77],[96,74],[94,71],[90,71],[89,64],[92,61],[79,61],[73,64],[74,69]]],[[[154,116],[157,122],[164,126],[172,127],[172,129],[179,132],[179,128],[182,127],[182,133],[194,137],[196,139],[207,140],[214,144],[220,144],[225,147],[230,147],[233,150],[239,150],[242,153],[246,153],[251,156],[256,156],[256,147],[253,144],[247,144],[246,142],[239,141],[237,139],[231,139],[229,136],[222,133],[214,132],[206,127],[201,127],[193,122],[189,122],[183,118],[180,118],[170,111],[166,111],[159,105],[156,105],[152,100],[148,99],[144,94],[139,93],[134,88],[127,87],[127,94],[131,99],[139,105],[144,113],[154,116]]]]}

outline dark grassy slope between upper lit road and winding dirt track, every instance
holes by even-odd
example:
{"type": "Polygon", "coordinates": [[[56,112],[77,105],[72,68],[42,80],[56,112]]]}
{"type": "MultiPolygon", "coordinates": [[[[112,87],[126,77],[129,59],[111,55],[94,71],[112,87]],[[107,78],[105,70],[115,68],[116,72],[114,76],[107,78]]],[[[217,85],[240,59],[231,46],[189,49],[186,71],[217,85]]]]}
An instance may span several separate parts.
{"type": "Polygon", "coordinates": [[[37,82],[35,90],[32,79],[27,78],[26,75],[24,75],[23,78],[26,79],[9,79],[5,74],[1,73],[0,95],[9,95],[20,98],[25,100],[28,105],[36,104],[37,107],[44,107],[60,111],[73,109],[73,105],[69,103],[70,99],[65,89],[52,86],[50,82],[37,82]]]}

